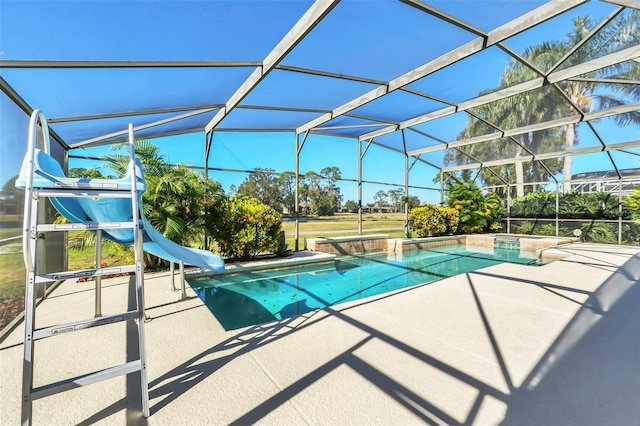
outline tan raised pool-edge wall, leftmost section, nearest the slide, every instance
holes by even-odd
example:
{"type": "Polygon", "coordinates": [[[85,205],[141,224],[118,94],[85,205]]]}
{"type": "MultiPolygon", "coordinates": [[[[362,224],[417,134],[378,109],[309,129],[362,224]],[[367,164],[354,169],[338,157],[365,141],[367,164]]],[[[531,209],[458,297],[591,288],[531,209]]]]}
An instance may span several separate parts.
{"type": "Polygon", "coordinates": [[[388,238],[388,234],[306,238],[304,246],[308,251],[335,255],[372,253],[387,250],[388,238]]]}

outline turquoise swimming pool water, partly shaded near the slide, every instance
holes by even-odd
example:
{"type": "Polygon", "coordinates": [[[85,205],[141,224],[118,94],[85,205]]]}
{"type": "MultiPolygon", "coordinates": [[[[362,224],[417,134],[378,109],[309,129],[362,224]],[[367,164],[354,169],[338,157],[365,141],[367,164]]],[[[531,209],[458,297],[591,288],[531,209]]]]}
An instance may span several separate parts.
{"type": "Polygon", "coordinates": [[[225,330],[412,287],[499,263],[540,265],[535,253],[445,246],[405,253],[343,256],[329,263],[222,275],[190,282],[225,330]]]}

